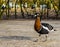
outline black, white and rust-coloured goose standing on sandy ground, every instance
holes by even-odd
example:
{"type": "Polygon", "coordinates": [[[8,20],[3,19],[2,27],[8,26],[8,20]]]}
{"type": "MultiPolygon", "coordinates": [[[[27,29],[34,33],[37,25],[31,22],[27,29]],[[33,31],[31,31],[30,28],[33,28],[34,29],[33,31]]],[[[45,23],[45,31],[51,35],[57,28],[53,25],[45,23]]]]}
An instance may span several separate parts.
{"type": "MultiPolygon", "coordinates": [[[[39,36],[43,34],[49,34],[49,32],[51,31],[55,31],[52,25],[48,23],[41,23],[39,14],[35,16],[36,16],[36,20],[34,24],[34,29],[37,33],[39,33],[39,36]]],[[[46,38],[47,38],[47,35],[46,35],[46,38]]]]}

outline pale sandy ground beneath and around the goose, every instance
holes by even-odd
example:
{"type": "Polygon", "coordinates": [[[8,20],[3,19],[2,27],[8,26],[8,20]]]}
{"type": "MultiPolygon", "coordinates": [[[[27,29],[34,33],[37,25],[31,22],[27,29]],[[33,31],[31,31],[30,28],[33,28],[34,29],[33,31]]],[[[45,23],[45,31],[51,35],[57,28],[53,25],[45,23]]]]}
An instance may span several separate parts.
{"type": "Polygon", "coordinates": [[[34,30],[34,20],[0,20],[0,47],[60,47],[60,20],[42,20],[54,26],[47,41],[34,30]],[[39,38],[39,39],[38,39],[39,38]],[[37,42],[34,42],[38,39],[37,42]]]}

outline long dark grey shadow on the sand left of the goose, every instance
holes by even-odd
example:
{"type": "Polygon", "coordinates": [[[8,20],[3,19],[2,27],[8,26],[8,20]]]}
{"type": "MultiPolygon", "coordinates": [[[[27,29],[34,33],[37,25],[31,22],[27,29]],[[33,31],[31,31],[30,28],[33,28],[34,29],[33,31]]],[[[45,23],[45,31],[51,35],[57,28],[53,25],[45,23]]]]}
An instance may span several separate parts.
{"type": "Polygon", "coordinates": [[[27,36],[2,36],[0,39],[2,40],[31,40],[32,37],[27,36]]]}

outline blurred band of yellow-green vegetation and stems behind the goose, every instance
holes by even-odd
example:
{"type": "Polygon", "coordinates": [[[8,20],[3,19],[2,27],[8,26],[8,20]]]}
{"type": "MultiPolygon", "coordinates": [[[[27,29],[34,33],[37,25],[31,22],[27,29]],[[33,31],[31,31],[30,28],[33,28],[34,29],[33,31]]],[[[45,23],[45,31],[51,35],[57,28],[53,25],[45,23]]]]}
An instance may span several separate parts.
{"type": "Polygon", "coordinates": [[[60,0],[1,0],[0,19],[17,19],[22,16],[34,18],[35,13],[40,13],[43,18],[59,18],[60,0]],[[51,12],[52,14],[51,14],[51,12]],[[54,13],[53,13],[54,12],[54,13]]]}

